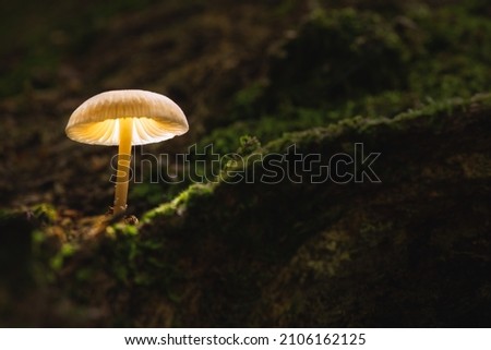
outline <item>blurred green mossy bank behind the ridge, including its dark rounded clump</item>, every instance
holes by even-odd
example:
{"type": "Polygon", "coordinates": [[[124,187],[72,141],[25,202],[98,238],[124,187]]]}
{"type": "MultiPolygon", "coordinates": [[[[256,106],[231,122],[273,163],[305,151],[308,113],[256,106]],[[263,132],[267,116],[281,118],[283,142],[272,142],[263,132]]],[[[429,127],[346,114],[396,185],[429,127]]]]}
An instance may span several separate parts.
{"type": "MultiPolygon", "coordinates": [[[[236,95],[229,125],[203,144],[233,152],[243,134],[267,143],[354,116],[393,118],[409,109],[489,92],[491,25],[476,3],[394,13],[314,11],[270,58],[266,79],[236,95]]],[[[448,106],[451,106],[450,102],[448,106]]]]}

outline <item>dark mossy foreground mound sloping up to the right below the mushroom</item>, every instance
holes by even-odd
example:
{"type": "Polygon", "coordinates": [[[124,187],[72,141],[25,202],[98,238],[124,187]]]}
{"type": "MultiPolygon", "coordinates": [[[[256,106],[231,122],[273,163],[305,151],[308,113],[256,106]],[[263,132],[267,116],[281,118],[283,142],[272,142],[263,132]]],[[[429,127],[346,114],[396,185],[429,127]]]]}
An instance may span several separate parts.
{"type": "Polygon", "coordinates": [[[489,326],[490,101],[286,135],[233,169],[252,183],[195,184],[84,238],[59,292],[112,326],[489,326]],[[294,144],[322,160],[363,144],[380,182],[296,183],[324,164],[296,173],[288,156],[284,180],[259,181],[294,144]]]}

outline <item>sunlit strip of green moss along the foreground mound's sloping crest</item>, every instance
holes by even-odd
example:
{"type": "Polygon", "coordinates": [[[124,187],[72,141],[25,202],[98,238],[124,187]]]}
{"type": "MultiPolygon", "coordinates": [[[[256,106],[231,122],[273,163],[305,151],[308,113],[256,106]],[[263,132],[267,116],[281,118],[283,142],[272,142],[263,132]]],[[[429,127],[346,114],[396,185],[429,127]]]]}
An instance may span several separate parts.
{"type": "MultiPolygon", "coordinates": [[[[446,128],[448,121],[457,120],[460,114],[471,108],[471,106],[482,106],[484,108],[491,102],[490,95],[478,95],[469,99],[448,99],[442,101],[429,100],[428,104],[418,110],[409,110],[395,116],[394,118],[363,118],[355,117],[343,119],[337,123],[332,123],[324,128],[312,128],[301,132],[285,133],[264,146],[253,137],[242,137],[242,147],[247,157],[241,161],[235,161],[226,170],[240,171],[252,165],[260,165],[262,157],[268,154],[284,154],[286,149],[295,144],[298,149],[310,149],[312,145],[321,148],[338,149],[344,147],[344,140],[357,140],[357,142],[375,142],[384,137],[387,133],[404,133],[409,129],[433,130],[440,132],[446,128]],[[251,146],[252,145],[252,146],[251,146]],[[251,147],[249,147],[251,146],[251,147]],[[254,159],[258,159],[255,161],[254,159]]],[[[344,152],[351,152],[343,148],[344,152]]],[[[211,195],[217,188],[223,189],[227,181],[227,172],[223,172],[219,181],[208,184],[193,184],[188,190],[181,192],[173,201],[164,203],[153,210],[147,212],[143,221],[151,224],[152,219],[158,216],[176,217],[182,216],[190,207],[196,204],[206,204],[211,195]]],[[[255,173],[261,177],[261,171],[255,173]]],[[[252,201],[254,203],[254,201],[252,201]]],[[[252,204],[254,205],[254,204],[252,204]]],[[[200,210],[200,208],[197,208],[200,210]]]]}

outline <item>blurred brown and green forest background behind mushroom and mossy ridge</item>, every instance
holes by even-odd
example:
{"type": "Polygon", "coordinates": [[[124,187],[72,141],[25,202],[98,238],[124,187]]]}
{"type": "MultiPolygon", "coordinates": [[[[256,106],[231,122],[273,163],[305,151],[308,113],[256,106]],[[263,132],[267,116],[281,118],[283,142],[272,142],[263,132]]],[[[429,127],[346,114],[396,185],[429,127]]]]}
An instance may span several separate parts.
{"type": "MultiPolygon", "coordinates": [[[[95,214],[111,203],[107,165],[116,150],[63,134],[71,112],[103,90],[155,90],[185,111],[190,132],[145,152],[197,142],[224,154],[241,135],[266,143],[357,114],[394,117],[491,84],[486,1],[1,7],[2,206],[50,202],[95,214]]],[[[151,205],[176,191],[157,190],[151,205]]]]}

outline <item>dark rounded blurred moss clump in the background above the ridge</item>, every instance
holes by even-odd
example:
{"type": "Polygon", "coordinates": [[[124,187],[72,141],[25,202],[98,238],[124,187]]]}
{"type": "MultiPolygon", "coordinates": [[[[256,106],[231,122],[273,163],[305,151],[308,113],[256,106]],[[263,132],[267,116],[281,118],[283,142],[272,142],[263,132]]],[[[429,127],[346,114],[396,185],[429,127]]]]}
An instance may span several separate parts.
{"type": "Polygon", "coordinates": [[[394,24],[376,13],[315,11],[272,60],[261,101],[266,110],[319,108],[403,88],[410,57],[394,24]]]}

